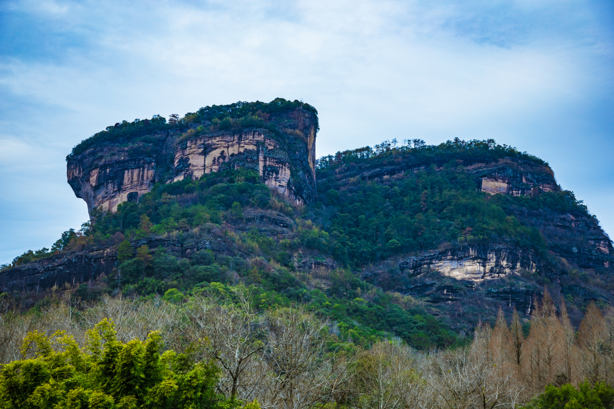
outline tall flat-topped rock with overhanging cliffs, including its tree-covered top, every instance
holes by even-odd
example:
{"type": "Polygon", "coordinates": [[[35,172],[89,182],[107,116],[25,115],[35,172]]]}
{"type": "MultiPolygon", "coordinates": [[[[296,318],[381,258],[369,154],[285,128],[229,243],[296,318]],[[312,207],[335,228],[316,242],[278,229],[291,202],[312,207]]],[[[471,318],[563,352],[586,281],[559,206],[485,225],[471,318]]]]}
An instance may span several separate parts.
{"type": "Polygon", "coordinates": [[[84,140],[67,157],[68,183],[88,211],[115,212],[155,182],[246,167],[295,205],[316,196],[317,111],[276,99],[213,105],[167,124],[123,121],[84,140]]]}

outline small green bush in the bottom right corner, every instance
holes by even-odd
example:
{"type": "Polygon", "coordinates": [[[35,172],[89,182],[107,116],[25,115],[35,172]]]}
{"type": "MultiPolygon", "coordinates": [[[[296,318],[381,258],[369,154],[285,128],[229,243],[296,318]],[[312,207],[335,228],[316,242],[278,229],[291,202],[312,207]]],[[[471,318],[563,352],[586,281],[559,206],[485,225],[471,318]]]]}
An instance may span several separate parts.
{"type": "Polygon", "coordinates": [[[572,384],[546,386],[543,394],[535,397],[526,408],[531,409],[612,409],[614,389],[606,383],[597,382],[591,386],[588,381],[578,388],[572,384]]]}

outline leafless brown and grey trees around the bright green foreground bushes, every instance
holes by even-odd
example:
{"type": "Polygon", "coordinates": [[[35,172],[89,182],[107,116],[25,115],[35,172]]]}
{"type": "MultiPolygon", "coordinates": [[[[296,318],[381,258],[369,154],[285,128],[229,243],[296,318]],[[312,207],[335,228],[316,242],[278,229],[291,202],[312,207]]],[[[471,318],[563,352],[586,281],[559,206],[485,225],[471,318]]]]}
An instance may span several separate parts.
{"type": "Polygon", "coordinates": [[[557,309],[546,292],[533,305],[527,337],[527,318],[513,312],[508,323],[500,310],[494,327],[480,323],[465,348],[419,353],[386,340],[344,353],[330,348],[335,323],[301,307],[257,312],[240,286],[212,289],[185,304],[103,297],[82,305],[64,299],[40,313],[21,314],[5,303],[0,359],[34,357],[20,347],[35,331],[47,337],[66,331],[85,348],[88,332],[107,319],[118,342],[144,343],[158,331],[164,350],[215,362],[219,394],[256,399],[262,408],[515,408],[548,384],[614,383],[614,310],[602,313],[590,305],[576,332],[564,299],[557,309]]]}

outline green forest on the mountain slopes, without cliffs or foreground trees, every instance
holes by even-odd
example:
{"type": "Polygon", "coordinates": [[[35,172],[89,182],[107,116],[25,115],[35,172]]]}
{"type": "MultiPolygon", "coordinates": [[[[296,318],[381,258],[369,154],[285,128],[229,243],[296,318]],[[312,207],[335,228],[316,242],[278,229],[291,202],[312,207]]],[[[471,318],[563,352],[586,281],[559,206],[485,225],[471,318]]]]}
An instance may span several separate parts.
{"type": "MultiPolygon", "coordinates": [[[[242,110],[284,110],[294,107],[292,104],[228,105],[221,111],[205,110],[198,115],[223,111],[243,118],[242,110]]],[[[528,220],[527,212],[590,215],[568,191],[533,198],[491,196],[478,191],[479,179],[465,166],[510,156],[531,160],[544,171],[549,170],[540,159],[492,140],[454,140],[438,146],[414,140],[402,147],[383,142],[375,151],[369,147],[346,151],[319,160],[319,197],[301,214],[273,196],[252,170],[225,170],[195,181],[158,183],[138,203],[120,204],[116,213],[94,212],[91,224],[85,223],[79,232],[64,232],[52,251],[26,252],[12,266],[60,251],[117,246],[117,269],[93,285],[81,285],[79,297],[96,299],[104,292],[119,291],[141,297],[170,290],[190,294],[209,283],[235,285],[241,281],[257,288],[257,307],[261,310],[274,305],[308,305],[319,316],[338,321],[341,338],[352,339],[357,345],[373,345],[386,334],[394,334],[416,348],[454,345],[456,335],[418,303],[375,288],[360,280],[359,273],[397,254],[418,254],[464,243],[516,245],[532,249],[543,262],[556,264],[548,253],[549,237],[528,220]],[[401,177],[360,177],[365,170],[391,166],[410,170],[401,177]],[[285,217],[289,232],[277,235],[261,231],[250,224],[256,220],[253,217],[259,217],[254,216],[256,211],[285,217]],[[237,229],[239,225],[247,227],[237,229]],[[182,245],[206,236],[218,240],[227,250],[217,255],[200,250],[181,258],[161,247],[141,245],[134,251],[128,241],[152,236],[177,240],[182,245]],[[300,251],[311,252],[322,261],[322,256],[330,256],[343,268],[311,275],[297,272],[295,261],[300,251]],[[314,280],[327,284],[314,288],[314,280]]],[[[386,277],[393,280],[397,275],[392,271],[386,277]]],[[[379,278],[378,285],[394,288],[385,282],[386,277],[379,278]]],[[[549,282],[547,278],[538,280],[540,285],[549,282]]],[[[44,300],[39,302],[45,304],[44,300]]]]}

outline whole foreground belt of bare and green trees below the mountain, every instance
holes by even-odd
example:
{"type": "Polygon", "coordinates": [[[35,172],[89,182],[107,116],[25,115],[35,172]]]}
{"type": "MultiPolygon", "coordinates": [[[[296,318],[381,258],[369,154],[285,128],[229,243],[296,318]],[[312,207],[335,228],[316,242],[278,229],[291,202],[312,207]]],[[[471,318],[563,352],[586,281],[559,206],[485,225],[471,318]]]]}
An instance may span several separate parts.
{"type": "Polygon", "coordinates": [[[547,293],[535,300],[527,337],[521,316],[507,323],[500,313],[494,329],[476,328],[470,345],[429,352],[394,338],[366,349],[340,345],[335,323],[305,308],[258,312],[243,287],[213,287],[174,303],[105,297],[77,308],[67,299],[26,315],[3,307],[6,408],[69,401],[441,409],[614,402],[614,312],[604,316],[591,305],[575,331],[564,301],[557,310],[547,293]]]}

